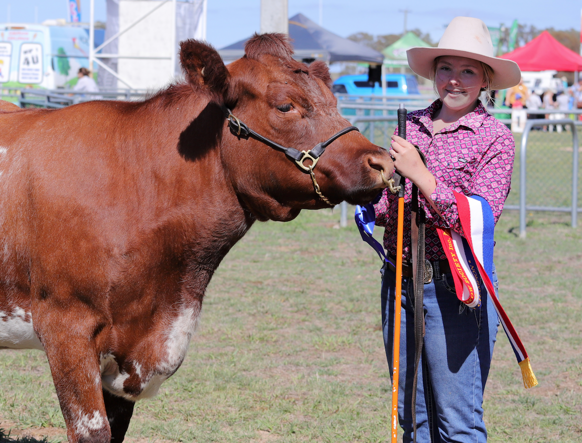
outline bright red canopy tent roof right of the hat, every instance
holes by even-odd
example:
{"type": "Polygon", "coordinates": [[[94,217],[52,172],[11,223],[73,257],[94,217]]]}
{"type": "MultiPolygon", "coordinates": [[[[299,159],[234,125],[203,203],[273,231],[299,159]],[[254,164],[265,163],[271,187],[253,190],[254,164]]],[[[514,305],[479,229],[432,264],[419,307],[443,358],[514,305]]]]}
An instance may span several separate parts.
{"type": "Polygon", "coordinates": [[[522,71],[556,70],[578,72],[582,70],[582,56],[566,48],[548,31],[501,58],[513,60],[522,71]]]}

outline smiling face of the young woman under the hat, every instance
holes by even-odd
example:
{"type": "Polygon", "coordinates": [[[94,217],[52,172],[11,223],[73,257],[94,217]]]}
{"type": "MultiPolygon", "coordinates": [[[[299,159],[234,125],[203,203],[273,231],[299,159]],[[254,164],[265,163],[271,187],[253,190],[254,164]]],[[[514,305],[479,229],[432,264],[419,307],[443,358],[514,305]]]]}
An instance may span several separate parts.
{"type": "Polygon", "coordinates": [[[487,86],[481,62],[465,57],[439,57],[435,71],[435,88],[443,107],[459,114],[473,111],[481,88],[487,86]]]}

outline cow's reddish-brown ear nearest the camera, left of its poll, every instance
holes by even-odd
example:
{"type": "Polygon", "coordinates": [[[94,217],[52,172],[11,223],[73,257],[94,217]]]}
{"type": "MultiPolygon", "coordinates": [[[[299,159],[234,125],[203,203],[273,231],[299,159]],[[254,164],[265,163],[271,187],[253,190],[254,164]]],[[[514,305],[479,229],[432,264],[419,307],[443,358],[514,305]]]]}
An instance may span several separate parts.
{"type": "Polygon", "coordinates": [[[229,73],[217,50],[197,40],[180,42],[180,62],[186,80],[194,90],[208,88],[223,97],[229,73]]]}

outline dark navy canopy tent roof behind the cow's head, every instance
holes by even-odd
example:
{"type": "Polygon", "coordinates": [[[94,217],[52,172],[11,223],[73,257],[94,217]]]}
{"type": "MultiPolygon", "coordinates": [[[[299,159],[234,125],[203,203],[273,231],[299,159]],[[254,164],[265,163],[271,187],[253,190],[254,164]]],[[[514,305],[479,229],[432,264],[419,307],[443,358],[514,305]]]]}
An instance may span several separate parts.
{"type": "MultiPolygon", "coordinates": [[[[329,32],[299,13],[289,19],[289,37],[292,39],[294,56],[298,59],[321,59],[326,62],[364,62],[380,64],[381,52],[347,40],[329,32]]],[[[248,39],[233,43],[218,52],[226,61],[244,55],[248,39]]]]}

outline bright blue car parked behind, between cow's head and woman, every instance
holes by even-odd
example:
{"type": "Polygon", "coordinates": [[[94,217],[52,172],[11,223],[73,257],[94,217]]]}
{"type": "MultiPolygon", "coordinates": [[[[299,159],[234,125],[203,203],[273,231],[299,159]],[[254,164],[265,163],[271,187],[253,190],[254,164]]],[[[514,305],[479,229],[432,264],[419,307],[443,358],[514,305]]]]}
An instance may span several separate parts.
{"type": "MultiPolygon", "coordinates": [[[[386,95],[418,94],[418,83],[412,74],[386,74],[386,95]]],[[[333,82],[333,93],[350,95],[382,95],[380,83],[370,83],[367,74],[345,75],[333,82]]]]}

